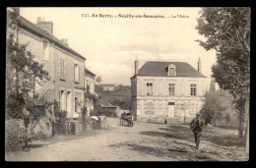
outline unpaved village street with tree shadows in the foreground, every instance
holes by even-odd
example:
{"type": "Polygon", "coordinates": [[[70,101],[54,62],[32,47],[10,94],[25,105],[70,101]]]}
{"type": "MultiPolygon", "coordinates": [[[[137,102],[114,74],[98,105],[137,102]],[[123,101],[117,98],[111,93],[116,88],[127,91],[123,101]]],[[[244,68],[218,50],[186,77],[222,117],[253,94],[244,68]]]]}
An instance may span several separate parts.
{"type": "Polygon", "coordinates": [[[30,152],[6,153],[7,161],[246,161],[237,131],[205,128],[195,149],[188,126],[135,123],[119,126],[107,118],[109,129],[88,135],[32,141],[30,152]],[[48,142],[48,143],[47,143],[48,142]],[[44,143],[44,145],[42,145],[44,143]],[[237,146],[236,146],[237,145],[237,146]]]}

